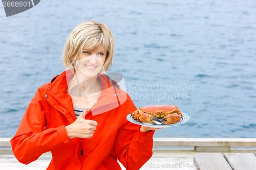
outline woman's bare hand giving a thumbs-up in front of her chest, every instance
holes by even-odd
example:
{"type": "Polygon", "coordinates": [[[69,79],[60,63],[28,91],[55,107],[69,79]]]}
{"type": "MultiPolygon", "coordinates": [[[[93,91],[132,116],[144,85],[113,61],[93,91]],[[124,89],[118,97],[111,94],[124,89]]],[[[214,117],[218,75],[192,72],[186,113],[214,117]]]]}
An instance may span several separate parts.
{"type": "Polygon", "coordinates": [[[70,139],[75,137],[90,138],[93,137],[93,133],[98,123],[94,120],[85,119],[87,109],[77,117],[74,123],[66,126],[66,132],[70,139]]]}

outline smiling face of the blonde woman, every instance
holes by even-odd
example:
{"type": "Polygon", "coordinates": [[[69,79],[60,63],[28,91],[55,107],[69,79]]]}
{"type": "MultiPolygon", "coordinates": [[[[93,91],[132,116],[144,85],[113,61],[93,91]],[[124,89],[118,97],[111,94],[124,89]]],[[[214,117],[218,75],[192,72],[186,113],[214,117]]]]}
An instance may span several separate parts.
{"type": "Polygon", "coordinates": [[[94,51],[83,50],[81,60],[76,62],[76,71],[86,78],[96,77],[102,70],[105,59],[106,51],[102,46],[94,51]]]}

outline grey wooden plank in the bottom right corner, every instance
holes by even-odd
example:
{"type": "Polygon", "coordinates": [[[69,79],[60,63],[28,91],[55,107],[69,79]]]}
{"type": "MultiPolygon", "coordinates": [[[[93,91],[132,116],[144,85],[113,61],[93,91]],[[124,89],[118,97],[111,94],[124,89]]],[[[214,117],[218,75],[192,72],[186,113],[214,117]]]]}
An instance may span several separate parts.
{"type": "Polygon", "coordinates": [[[256,170],[253,153],[225,153],[224,157],[234,170],[256,170]]]}

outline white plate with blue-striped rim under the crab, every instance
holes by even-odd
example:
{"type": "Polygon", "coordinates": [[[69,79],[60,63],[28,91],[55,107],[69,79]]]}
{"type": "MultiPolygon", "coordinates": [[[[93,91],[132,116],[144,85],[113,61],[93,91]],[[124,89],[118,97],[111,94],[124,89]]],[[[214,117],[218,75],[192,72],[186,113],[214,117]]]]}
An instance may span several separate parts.
{"type": "Polygon", "coordinates": [[[188,120],[190,119],[190,116],[189,116],[188,114],[186,114],[186,113],[183,113],[183,112],[181,112],[181,113],[182,113],[183,116],[182,116],[180,122],[175,123],[175,124],[170,124],[170,125],[152,125],[152,124],[148,124],[148,123],[140,123],[140,122],[138,122],[137,120],[135,120],[135,119],[132,117],[131,114],[128,114],[128,115],[126,116],[126,119],[127,119],[129,122],[133,123],[133,124],[143,125],[143,126],[146,126],[146,127],[151,127],[151,128],[168,128],[168,127],[173,127],[173,126],[182,125],[182,124],[185,124],[185,123],[188,122],[188,120]]]}

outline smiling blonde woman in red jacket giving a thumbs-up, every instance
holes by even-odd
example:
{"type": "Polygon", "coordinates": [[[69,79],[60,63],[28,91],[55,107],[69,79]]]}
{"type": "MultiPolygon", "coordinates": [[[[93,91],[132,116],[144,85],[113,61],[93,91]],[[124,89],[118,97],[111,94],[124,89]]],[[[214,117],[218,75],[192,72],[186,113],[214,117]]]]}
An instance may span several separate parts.
{"type": "Polygon", "coordinates": [[[68,69],[38,88],[12,150],[28,164],[51,151],[47,169],[139,169],[152,156],[154,128],[127,122],[129,95],[104,74],[115,41],[103,23],[84,21],[66,42],[68,69]]]}

